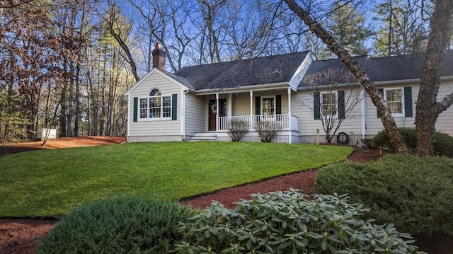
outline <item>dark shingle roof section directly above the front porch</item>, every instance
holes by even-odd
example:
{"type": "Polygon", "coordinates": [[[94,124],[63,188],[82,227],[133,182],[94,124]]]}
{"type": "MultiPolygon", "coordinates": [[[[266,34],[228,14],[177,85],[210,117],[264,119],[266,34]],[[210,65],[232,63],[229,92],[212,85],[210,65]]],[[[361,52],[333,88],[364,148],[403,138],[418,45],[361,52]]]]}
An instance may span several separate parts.
{"type": "Polygon", "coordinates": [[[297,52],[184,67],[175,75],[185,79],[190,88],[197,90],[288,82],[308,53],[297,52]]]}

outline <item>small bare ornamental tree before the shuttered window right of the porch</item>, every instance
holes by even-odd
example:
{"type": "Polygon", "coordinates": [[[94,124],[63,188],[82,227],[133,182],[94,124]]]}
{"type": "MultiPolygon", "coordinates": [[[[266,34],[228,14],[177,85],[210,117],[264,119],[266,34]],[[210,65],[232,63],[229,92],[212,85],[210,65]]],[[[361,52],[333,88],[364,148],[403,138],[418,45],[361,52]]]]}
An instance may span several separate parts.
{"type": "Polygon", "coordinates": [[[301,103],[314,111],[315,120],[321,120],[326,141],[331,143],[343,121],[353,116],[360,103],[360,86],[348,71],[338,69],[307,75],[302,82],[313,100],[301,103]]]}

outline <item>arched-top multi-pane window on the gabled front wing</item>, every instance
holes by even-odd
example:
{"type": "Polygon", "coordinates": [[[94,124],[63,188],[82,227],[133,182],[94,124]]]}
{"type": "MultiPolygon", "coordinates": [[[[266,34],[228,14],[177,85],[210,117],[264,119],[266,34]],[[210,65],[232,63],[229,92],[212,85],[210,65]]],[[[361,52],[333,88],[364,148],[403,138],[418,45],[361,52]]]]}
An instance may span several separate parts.
{"type": "Polygon", "coordinates": [[[171,117],[171,96],[161,96],[159,89],[153,89],[149,97],[140,98],[140,119],[171,117]]]}

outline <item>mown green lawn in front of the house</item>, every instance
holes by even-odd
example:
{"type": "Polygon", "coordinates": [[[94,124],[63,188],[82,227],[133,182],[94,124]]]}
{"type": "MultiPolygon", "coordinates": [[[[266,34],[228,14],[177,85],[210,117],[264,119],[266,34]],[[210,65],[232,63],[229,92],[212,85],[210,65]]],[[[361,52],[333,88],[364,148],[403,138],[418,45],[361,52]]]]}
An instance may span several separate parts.
{"type": "Polygon", "coordinates": [[[345,159],[345,146],[134,143],[0,158],[0,217],[52,217],[121,193],[179,200],[345,159]]]}

